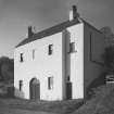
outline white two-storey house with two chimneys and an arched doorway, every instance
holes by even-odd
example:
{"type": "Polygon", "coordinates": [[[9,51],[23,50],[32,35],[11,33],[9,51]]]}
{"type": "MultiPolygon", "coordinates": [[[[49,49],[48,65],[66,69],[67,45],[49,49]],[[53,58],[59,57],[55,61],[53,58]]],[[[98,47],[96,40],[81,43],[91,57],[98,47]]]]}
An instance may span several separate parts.
{"type": "Polygon", "coordinates": [[[69,20],[35,34],[14,49],[15,96],[24,99],[84,99],[103,72],[104,36],[73,5],[69,20]]]}

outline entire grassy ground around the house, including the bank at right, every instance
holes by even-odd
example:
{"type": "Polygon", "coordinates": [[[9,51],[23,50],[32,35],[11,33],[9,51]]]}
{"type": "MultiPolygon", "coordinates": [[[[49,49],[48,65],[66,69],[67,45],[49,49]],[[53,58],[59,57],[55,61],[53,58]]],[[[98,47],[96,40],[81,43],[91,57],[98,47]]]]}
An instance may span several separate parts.
{"type": "Polygon", "coordinates": [[[92,88],[91,94],[85,102],[0,98],[0,114],[114,114],[114,84],[92,88]]]}

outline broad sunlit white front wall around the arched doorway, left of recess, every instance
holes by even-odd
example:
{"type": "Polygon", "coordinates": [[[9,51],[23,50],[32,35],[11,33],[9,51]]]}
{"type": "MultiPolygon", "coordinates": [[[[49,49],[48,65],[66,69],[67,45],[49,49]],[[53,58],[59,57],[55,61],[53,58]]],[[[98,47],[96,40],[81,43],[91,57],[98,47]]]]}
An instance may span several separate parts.
{"type": "Polygon", "coordinates": [[[41,100],[62,100],[64,65],[62,56],[62,33],[35,40],[14,50],[14,87],[15,96],[29,99],[29,81],[40,81],[41,100]],[[52,55],[48,55],[48,46],[53,45],[52,55]],[[35,59],[33,60],[33,49],[35,59]],[[20,62],[20,53],[24,53],[24,62],[20,62]],[[48,90],[48,77],[53,77],[53,89],[48,90]],[[18,90],[18,80],[23,80],[23,90],[18,90]]]}

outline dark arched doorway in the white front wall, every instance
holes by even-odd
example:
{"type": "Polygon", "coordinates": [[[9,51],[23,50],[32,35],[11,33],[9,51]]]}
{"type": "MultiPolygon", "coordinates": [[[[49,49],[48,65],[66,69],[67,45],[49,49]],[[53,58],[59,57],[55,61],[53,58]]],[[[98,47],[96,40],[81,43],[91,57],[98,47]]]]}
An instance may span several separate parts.
{"type": "Polygon", "coordinates": [[[30,100],[40,99],[40,81],[37,78],[33,78],[29,83],[29,96],[30,100]]]}

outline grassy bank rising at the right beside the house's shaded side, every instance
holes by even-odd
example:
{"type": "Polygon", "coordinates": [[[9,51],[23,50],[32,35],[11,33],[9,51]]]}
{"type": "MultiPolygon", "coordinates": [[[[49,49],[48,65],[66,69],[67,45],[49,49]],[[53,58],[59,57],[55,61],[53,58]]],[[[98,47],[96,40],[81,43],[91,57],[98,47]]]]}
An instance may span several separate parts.
{"type": "Polygon", "coordinates": [[[114,114],[114,84],[93,89],[94,96],[72,114],[114,114]]]}

